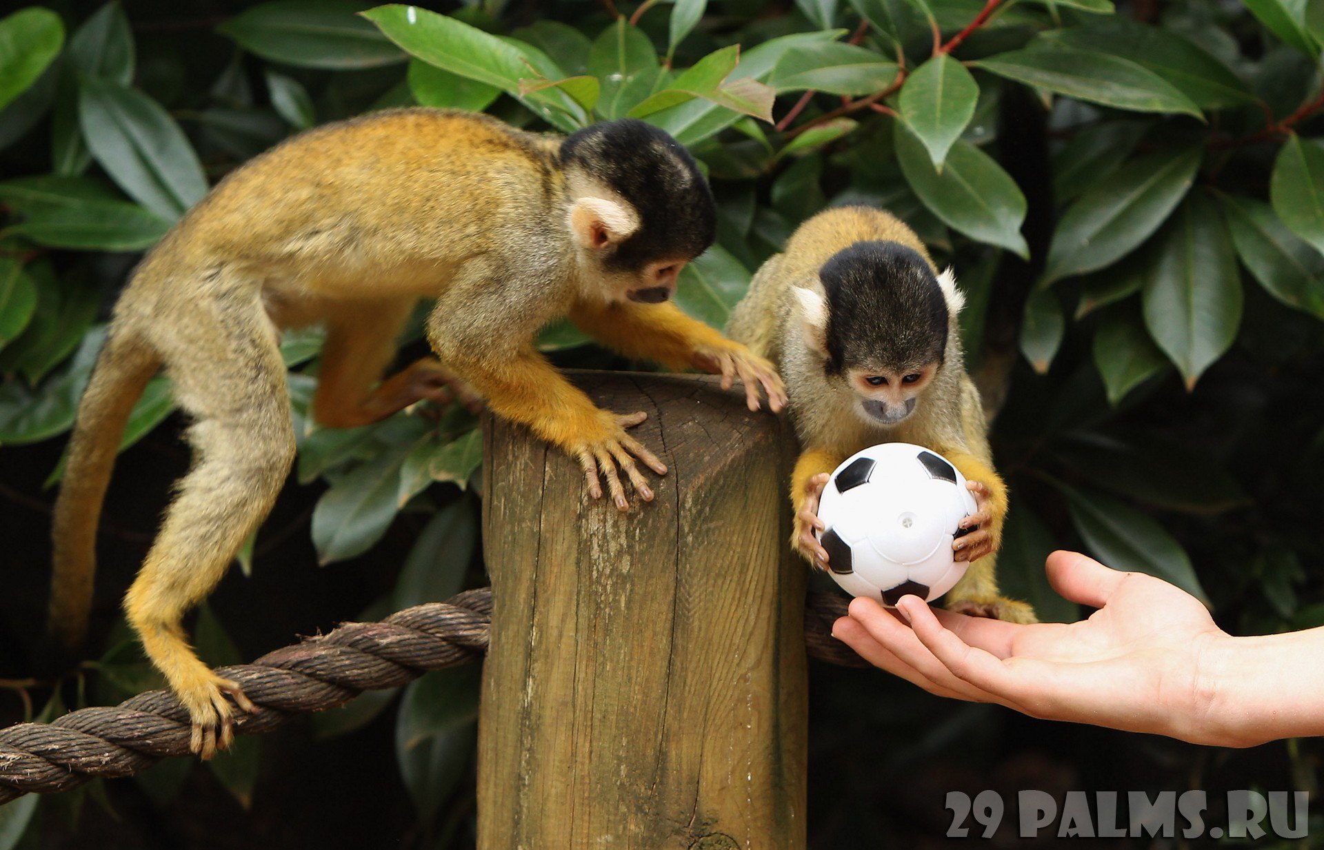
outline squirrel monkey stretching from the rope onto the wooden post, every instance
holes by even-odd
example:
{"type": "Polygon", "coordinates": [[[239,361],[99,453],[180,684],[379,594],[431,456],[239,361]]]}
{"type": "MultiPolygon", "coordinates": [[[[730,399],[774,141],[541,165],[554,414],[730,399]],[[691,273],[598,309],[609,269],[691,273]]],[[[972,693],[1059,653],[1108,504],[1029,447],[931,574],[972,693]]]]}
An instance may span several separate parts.
{"type": "Polygon", "coordinates": [[[115,306],[78,409],[54,515],[50,624],[86,629],[97,518],[126,418],[159,369],[191,416],[193,465],[126,597],[128,621],[192,718],[204,759],[233,735],[240,687],[189,647],[181,618],[266,516],[294,458],[281,328],[327,330],[314,417],[348,428],[421,399],[473,401],[527,425],[602,483],[620,510],[636,458],[666,466],[618,414],[538,354],[569,316],[617,351],[723,375],[779,410],[772,364],[673,303],[677,275],[714,240],[712,195],[671,136],[638,120],[569,136],[486,115],[391,110],[327,124],[226,176],[147,254],[115,306]],[[420,298],[438,359],[379,379],[420,298]],[[445,364],[445,367],[442,365],[445,364]],[[469,389],[473,388],[473,391],[469,389]],[[229,696],[233,700],[226,699],[229,696]]]}

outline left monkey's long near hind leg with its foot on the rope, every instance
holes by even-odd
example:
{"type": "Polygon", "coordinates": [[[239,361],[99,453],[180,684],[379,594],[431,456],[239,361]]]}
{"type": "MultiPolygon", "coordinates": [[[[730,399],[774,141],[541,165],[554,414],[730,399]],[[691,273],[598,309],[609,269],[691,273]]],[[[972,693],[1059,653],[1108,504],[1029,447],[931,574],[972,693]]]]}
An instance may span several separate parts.
{"type": "Polygon", "coordinates": [[[193,417],[193,466],[124,608],[147,657],[188,710],[189,748],[209,759],[252,703],[189,647],[181,621],[225,575],[275,500],[294,461],[294,430],[274,330],[256,301],[200,305],[193,327],[160,336],[175,399],[193,417]],[[212,315],[207,315],[207,314],[212,315]],[[209,320],[211,319],[211,320],[209,320]]]}

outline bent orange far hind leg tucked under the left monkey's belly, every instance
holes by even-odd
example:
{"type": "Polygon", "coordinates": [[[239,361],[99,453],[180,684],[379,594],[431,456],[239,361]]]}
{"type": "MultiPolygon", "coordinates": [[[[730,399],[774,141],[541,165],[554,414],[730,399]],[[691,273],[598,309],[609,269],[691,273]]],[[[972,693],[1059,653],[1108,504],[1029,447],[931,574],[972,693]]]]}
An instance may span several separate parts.
{"type": "Polygon", "coordinates": [[[458,400],[477,410],[478,393],[433,357],[422,357],[372,384],[396,354],[396,335],[413,301],[357,302],[327,320],[312,417],[330,428],[355,428],[387,418],[422,399],[458,400]]]}

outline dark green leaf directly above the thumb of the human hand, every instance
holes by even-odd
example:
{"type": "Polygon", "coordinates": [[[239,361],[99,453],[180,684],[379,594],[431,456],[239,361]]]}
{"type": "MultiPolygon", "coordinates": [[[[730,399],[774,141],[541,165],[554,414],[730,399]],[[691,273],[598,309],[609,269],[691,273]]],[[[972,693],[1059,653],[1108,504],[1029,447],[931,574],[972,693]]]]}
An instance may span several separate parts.
{"type": "Polygon", "coordinates": [[[1071,522],[1094,557],[1113,569],[1170,581],[1209,604],[1186,551],[1151,516],[1100,493],[1059,489],[1067,496],[1071,522]]]}

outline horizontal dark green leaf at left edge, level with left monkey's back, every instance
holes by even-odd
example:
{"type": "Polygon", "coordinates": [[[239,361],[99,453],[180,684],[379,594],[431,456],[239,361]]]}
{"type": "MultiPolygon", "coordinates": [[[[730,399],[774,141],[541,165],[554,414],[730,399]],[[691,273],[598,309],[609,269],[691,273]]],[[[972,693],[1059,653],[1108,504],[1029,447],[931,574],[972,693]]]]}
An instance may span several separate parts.
{"type": "Polygon", "coordinates": [[[5,229],[38,245],[77,250],[142,250],[169,221],[87,177],[42,175],[0,183],[0,201],[23,214],[5,229]]]}

